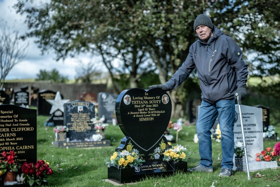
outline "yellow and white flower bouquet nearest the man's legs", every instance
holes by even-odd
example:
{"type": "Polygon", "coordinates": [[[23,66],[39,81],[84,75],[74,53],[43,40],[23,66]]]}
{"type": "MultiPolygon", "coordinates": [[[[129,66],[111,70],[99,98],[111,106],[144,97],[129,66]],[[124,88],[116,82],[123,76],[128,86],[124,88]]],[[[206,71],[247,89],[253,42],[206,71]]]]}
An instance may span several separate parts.
{"type": "Polygon", "coordinates": [[[175,161],[179,162],[185,159],[187,156],[189,156],[191,151],[184,148],[181,145],[172,146],[171,149],[168,149],[164,152],[163,160],[169,162],[169,161],[175,161]]]}

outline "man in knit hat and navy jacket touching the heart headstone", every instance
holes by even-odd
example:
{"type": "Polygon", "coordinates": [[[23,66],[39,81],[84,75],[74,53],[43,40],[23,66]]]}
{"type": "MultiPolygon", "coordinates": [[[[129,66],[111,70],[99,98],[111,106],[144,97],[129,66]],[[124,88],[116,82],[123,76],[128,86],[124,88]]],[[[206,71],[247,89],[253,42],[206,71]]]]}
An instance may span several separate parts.
{"type": "Polygon", "coordinates": [[[200,14],[193,29],[199,39],[191,46],[181,67],[165,84],[149,88],[170,91],[180,85],[197,68],[202,90],[202,103],[196,130],[199,139],[200,163],[188,171],[213,172],[211,128],[218,117],[222,133],[222,163],[219,176],[231,176],[233,167],[233,126],[235,93],[239,103],[246,97],[248,65],[242,59],[237,43],[213,25],[209,16],[200,14]]]}

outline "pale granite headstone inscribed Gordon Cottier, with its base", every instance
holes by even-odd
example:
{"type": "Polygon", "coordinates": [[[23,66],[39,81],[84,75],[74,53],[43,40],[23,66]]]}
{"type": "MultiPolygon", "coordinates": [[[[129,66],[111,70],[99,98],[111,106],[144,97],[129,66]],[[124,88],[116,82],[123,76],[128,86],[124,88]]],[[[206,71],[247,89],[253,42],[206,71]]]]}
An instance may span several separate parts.
{"type": "MultiPolygon", "coordinates": [[[[266,162],[266,161],[255,161],[256,153],[260,153],[263,149],[263,135],[262,135],[262,109],[257,107],[251,107],[246,105],[240,105],[242,112],[242,122],[244,128],[244,137],[246,145],[247,154],[251,157],[248,159],[248,167],[250,171],[267,169],[267,168],[276,168],[277,162],[266,162]]],[[[233,129],[234,139],[243,143],[242,138],[242,129],[239,116],[238,105],[235,105],[235,120],[234,120],[234,129],[233,129]]],[[[223,135],[222,135],[223,136],[223,135]]],[[[234,155],[235,156],[235,155],[234,155]]],[[[243,157],[243,171],[247,171],[245,157],[243,157]]],[[[235,159],[233,158],[233,162],[235,159]]],[[[233,170],[236,167],[234,165],[233,170]]]]}

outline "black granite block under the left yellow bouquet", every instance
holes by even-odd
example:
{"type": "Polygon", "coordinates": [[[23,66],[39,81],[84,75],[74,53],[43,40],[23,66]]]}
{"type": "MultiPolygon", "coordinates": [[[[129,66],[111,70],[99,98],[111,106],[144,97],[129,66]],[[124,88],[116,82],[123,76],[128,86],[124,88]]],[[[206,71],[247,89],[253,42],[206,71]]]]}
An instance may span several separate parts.
{"type": "Polygon", "coordinates": [[[134,182],[134,167],[116,167],[108,164],[108,179],[117,183],[130,183],[134,182]]]}

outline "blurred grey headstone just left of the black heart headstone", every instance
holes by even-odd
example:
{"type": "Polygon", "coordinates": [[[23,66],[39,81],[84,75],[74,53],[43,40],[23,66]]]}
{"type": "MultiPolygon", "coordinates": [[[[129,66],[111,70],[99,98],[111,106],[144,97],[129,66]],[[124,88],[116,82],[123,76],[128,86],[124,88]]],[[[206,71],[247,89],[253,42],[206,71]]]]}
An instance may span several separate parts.
{"type": "Polygon", "coordinates": [[[105,117],[104,123],[112,123],[113,114],[115,113],[115,106],[118,95],[100,92],[97,96],[98,102],[98,117],[105,117]]]}

